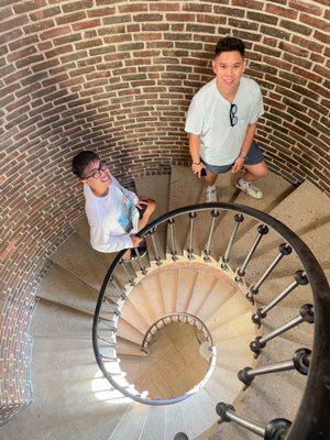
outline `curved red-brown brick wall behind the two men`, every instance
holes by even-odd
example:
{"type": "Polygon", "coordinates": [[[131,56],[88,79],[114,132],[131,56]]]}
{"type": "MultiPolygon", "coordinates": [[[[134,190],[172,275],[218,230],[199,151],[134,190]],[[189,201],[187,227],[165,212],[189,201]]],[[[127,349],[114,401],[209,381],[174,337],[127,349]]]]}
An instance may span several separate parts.
{"type": "Polygon", "coordinates": [[[327,3],[2,0],[2,421],[30,399],[34,293],[81,216],[72,156],[98,150],[125,185],[187,164],[185,112],[212,77],[219,36],[246,42],[248,74],[264,94],[257,139],[271,168],[329,191],[327,3]]]}

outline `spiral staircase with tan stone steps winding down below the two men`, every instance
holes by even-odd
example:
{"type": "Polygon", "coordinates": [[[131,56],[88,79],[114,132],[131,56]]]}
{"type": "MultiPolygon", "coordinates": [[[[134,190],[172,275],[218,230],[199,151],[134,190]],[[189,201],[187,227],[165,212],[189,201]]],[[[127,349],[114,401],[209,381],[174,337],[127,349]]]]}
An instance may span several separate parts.
{"type": "Polygon", "coordinates": [[[272,173],[254,200],[234,178],[218,178],[217,188],[235,211],[205,204],[189,168],[138,178],[136,193],[157,201],[163,220],[146,228],[148,257],[132,264],[92,251],[86,220],[76,224],[52,258],[30,329],[34,402],[3,439],[256,439],[271,420],[295,420],[314,355],[315,286],[295,246],[250,208],[290,228],[329,275],[329,200],[272,173]],[[190,389],[189,345],[170,366],[154,351],[173,323],[199,332],[206,374],[190,389]]]}

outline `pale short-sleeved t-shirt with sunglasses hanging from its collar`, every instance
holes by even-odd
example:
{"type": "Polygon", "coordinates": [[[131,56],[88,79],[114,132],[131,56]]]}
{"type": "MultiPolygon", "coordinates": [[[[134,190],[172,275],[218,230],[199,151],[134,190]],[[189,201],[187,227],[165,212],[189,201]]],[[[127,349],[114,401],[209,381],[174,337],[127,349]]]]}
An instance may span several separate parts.
{"type": "Polygon", "coordinates": [[[263,114],[263,98],[258,85],[242,76],[232,101],[238,106],[238,123],[230,124],[230,102],[217,88],[216,78],[193,98],[185,131],[200,138],[200,156],[210,165],[230,165],[239,156],[249,124],[263,114]]]}

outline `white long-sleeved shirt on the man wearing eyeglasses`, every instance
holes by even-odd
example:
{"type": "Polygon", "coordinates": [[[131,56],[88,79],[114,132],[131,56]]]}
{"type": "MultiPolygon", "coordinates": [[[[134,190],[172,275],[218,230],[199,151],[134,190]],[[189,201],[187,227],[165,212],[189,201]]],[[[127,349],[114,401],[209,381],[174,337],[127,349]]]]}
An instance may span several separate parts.
{"type": "Polygon", "coordinates": [[[118,252],[132,248],[131,234],[138,232],[138,196],[111,176],[109,191],[97,197],[84,185],[85,210],[90,227],[91,248],[99,252],[118,252]]]}

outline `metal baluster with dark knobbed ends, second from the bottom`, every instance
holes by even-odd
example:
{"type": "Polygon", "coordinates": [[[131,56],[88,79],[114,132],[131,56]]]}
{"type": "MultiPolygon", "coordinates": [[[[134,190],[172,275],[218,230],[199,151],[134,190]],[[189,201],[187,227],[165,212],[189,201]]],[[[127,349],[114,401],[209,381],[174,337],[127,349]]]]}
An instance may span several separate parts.
{"type": "Polygon", "coordinates": [[[295,351],[292,360],[278,362],[272,365],[260,366],[257,369],[252,369],[251,366],[245,366],[240,370],[238,377],[246,387],[252,383],[255,376],[261,376],[268,373],[278,373],[283,371],[297,370],[298,373],[307,376],[309,367],[309,356],[311,351],[308,349],[299,349],[295,351]]]}

